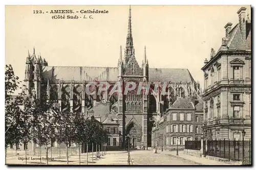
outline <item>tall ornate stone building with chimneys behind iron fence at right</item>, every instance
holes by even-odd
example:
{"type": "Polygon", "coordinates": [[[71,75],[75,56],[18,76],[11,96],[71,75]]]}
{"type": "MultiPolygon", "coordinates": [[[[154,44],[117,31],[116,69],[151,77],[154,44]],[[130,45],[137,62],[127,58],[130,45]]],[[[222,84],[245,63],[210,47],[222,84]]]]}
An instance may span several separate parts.
{"type": "Polygon", "coordinates": [[[204,72],[204,135],[208,139],[251,138],[250,9],[239,9],[239,23],[226,24],[217,53],[211,49],[204,72]],[[248,13],[248,14],[246,14],[248,13]]]}

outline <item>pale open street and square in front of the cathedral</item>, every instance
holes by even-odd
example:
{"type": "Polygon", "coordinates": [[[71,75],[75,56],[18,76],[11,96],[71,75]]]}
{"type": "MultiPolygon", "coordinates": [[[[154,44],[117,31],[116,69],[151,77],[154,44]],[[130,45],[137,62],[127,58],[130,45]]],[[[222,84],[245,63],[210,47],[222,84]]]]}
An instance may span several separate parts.
{"type": "MultiPolygon", "coordinates": [[[[58,154],[53,154],[52,160],[49,160],[49,165],[67,165],[67,157],[64,155],[59,159],[58,154]]],[[[132,161],[131,165],[198,165],[193,161],[189,161],[183,158],[178,158],[172,155],[169,155],[166,152],[158,152],[157,154],[153,153],[153,150],[134,150],[130,151],[130,156],[132,161]]],[[[7,157],[7,164],[25,164],[25,156],[11,156],[7,157]]],[[[39,164],[38,156],[28,156],[30,159],[27,160],[27,164],[39,164]]],[[[42,156],[42,158],[44,158],[42,156]]],[[[50,157],[50,155],[49,155],[50,157]]],[[[100,159],[95,158],[94,153],[94,163],[92,163],[92,153],[89,153],[88,164],[89,165],[127,165],[128,153],[126,151],[108,151],[106,155],[103,155],[100,159]]],[[[41,160],[42,165],[46,165],[46,159],[41,160]]],[[[86,154],[81,154],[81,165],[87,164],[86,154]]],[[[70,155],[69,156],[69,165],[79,165],[79,156],[70,155]]]]}

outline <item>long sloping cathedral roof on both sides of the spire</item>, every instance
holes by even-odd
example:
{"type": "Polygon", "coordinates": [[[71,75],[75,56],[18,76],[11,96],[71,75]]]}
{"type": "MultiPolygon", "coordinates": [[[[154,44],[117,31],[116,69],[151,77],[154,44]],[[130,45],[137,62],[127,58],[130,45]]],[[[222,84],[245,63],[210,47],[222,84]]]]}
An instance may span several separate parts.
{"type": "MultiPolygon", "coordinates": [[[[117,67],[44,66],[43,77],[63,81],[110,81],[116,82],[117,67]]],[[[188,69],[148,68],[150,82],[194,82],[188,69]]]]}

